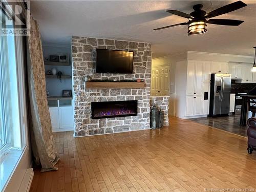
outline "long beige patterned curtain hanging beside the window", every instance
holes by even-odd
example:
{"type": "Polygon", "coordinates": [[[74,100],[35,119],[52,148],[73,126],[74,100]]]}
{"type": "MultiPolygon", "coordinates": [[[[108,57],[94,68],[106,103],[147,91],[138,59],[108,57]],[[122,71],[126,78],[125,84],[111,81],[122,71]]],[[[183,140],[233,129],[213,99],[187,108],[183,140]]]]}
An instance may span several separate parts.
{"type": "Polygon", "coordinates": [[[44,57],[37,22],[31,17],[28,36],[28,84],[31,111],[31,144],[35,163],[41,164],[41,172],[57,170],[59,160],[54,146],[52,125],[46,96],[44,57]]]}

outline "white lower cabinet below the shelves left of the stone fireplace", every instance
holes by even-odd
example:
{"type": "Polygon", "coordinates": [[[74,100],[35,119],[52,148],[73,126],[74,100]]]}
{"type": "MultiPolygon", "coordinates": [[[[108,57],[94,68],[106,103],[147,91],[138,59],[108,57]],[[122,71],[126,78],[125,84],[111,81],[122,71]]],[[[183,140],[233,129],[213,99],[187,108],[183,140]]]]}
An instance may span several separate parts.
{"type": "Polygon", "coordinates": [[[55,104],[57,106],[51,106],[49,101],[48,104],[51,116],[52,131],[73,131],[74,115],[72,100],[57,100],[57,104],[55,104]]]}

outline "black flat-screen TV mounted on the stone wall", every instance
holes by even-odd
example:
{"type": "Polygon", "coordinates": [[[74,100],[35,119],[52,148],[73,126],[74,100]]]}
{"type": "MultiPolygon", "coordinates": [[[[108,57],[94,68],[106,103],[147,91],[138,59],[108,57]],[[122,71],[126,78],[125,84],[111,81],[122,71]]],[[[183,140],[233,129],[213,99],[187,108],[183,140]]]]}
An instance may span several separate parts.
{"type": "Polygon", "coordinates": [[[133,52],[96,49],[96,73],[133,73],[133,52]]]}

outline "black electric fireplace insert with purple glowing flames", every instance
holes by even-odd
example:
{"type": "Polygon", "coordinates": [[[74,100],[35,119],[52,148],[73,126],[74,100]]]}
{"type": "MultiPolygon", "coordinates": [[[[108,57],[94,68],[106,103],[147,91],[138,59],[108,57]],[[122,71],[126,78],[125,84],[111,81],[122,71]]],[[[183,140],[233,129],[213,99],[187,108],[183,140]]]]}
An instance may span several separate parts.
{"type": "Polygon", "coordinates": [[[138,101],[92,102],[92,119],[138,115],[138,101]]]}

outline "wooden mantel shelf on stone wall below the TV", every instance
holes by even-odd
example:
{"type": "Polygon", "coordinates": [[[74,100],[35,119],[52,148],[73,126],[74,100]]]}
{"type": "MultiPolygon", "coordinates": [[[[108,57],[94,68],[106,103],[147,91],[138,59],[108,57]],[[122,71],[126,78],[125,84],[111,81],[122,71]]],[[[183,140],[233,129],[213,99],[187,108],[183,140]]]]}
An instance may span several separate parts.
{"type": "Polygon", "coordinates": [[[86,82],[86,89],[144,88],[144,82],[86,82]]]}

